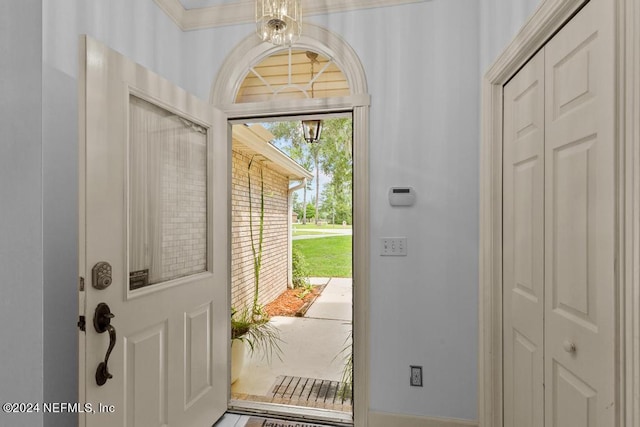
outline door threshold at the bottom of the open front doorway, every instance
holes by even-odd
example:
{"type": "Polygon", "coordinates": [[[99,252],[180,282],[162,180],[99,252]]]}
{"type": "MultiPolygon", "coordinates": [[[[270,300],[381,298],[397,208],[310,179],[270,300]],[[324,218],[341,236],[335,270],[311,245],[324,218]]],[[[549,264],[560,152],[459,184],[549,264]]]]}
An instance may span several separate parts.
{"type": "Polygon", "coordinates": [[[332,411],[330,409],[283,405],[281,403],[231,399],[227,412],[241,415],[272,416],[289,421],[316,422],[339,427],[353,427],[352,414],[342,411],[332,411]]]}

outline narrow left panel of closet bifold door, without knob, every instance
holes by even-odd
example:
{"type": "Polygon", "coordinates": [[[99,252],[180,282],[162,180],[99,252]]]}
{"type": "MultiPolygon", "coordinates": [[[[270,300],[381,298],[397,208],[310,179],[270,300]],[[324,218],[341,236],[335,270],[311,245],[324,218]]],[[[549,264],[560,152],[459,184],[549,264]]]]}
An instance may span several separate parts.
{"type": "Polygon", "coordinates": [[[544,425],[544,53],[504,89],[504,426],[544,425]]]}

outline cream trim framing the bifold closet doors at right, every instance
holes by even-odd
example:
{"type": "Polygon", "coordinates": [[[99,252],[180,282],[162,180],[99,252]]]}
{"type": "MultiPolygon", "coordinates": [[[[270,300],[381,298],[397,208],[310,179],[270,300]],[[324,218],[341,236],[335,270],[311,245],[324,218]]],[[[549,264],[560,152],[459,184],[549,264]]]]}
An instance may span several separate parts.
{"type": "MultiPolygon", "coordinates": [[[[546,0],[484,75],[481,104],[478,418],[502,427],[503,85],[587,0],[546,0]]],[[[614,0],[617,427],[640,423],[640,5],[614,0]]]]}

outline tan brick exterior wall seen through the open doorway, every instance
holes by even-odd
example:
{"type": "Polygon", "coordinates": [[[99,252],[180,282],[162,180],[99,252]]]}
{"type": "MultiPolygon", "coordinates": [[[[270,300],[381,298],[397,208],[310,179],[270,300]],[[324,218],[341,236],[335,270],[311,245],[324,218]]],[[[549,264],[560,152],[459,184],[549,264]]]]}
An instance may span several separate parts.
{"type": "MultiPolygon", "coordinates": [[[[233,151],[231,195],[231,304],[236,309],[253,301],[254,272],[249,229],[249,180],[251,159],[233,151]]],[[[256,249],[260,227],[260,169],[264,179],[264,234],[260,269],[259,303],[273,301],[287,289],[289,180],[261,162],[251,166],[253,231],[256,249]]]]}

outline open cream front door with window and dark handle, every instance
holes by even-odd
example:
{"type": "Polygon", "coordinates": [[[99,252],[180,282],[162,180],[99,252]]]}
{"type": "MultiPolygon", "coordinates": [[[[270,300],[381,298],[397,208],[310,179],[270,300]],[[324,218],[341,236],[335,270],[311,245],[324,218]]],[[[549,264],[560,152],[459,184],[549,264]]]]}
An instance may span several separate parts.
{"type": "Polygon", "coordinates": [[[80,425],[210,427],[228,398],[226,117],[81,43],[80,425]]]}

